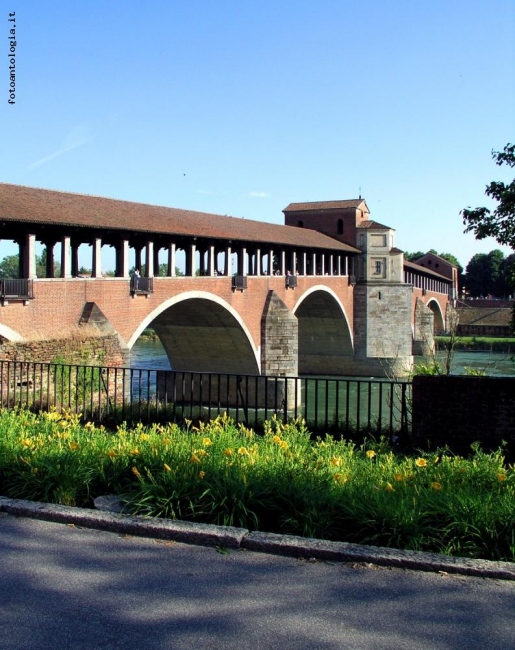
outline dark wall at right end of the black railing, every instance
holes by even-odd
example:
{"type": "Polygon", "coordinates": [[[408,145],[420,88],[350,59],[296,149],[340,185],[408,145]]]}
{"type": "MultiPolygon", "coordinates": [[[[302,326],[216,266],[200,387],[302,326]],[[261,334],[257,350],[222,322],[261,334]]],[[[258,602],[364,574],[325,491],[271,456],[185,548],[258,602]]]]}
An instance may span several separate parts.
{"type": "Polygon", "coordinates": [[[474,442],[489,451],[505,441],[515,460],[515,379],[416,375],[412,407],[415,447],[463,455],[474,442]]]}

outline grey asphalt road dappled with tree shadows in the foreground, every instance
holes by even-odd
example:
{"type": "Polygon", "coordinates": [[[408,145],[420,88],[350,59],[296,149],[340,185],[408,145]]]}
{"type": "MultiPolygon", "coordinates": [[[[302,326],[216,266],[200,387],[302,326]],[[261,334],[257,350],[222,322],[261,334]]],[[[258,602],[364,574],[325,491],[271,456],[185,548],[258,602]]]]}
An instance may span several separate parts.
{"type": "Polygon", "coordinates": [[[515,583],[306,561],[0,513],[0,649],[515,647],[515,583]]]}

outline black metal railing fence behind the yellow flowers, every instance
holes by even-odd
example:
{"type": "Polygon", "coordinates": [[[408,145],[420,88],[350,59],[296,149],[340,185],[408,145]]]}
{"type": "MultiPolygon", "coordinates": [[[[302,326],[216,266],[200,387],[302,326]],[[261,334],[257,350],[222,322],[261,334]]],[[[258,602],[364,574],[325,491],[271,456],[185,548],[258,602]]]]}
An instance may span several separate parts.
{"type": "Polygon", "coordinates": [[[228,413],[259,428],[304,419],[312,432],[411,429],[411,384],[0,361],[0,406],[66,409],[98,422],[184,422],[228,413]]]}

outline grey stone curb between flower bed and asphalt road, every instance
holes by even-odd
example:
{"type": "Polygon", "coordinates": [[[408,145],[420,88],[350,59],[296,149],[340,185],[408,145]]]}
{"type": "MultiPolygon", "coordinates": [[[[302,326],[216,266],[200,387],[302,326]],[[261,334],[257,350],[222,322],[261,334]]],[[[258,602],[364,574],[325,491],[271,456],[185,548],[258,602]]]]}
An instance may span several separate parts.
{"type": "Polygon", "coordinates": [[[290,535],[250,532],[245,528],[154,519],[6,497],[0,497],[0,512],[44,521],[75,524],[84,528],[168,539],[184,544],[242,548],[290,557],[371,563],[378,566],[417,571],[515,580],[515,563],[511,562],[469,560],[433,553],[362,546],[347,542],[329,542],[290,535]]]}

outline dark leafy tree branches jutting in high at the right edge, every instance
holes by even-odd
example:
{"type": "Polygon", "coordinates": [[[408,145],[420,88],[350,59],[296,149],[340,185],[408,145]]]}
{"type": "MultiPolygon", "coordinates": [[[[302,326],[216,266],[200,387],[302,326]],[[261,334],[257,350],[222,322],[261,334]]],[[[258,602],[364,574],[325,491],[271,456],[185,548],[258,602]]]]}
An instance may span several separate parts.
{"type": "MultiPolygon", "coordinates": [[[[507,144],[503,151],[492,151],[496,165],[515,167],[515,145],[507,144]]],[[[493,237],[499,244],[515,248],[515,179],[511,183],[493,181],[485,194],[497,201],[493,212],[488,208],[466,208],[461,211],[465,232],[473,232],[476,239],[493,237]]]]}

